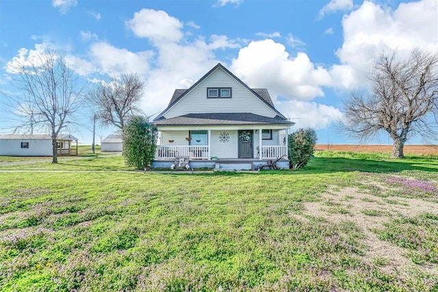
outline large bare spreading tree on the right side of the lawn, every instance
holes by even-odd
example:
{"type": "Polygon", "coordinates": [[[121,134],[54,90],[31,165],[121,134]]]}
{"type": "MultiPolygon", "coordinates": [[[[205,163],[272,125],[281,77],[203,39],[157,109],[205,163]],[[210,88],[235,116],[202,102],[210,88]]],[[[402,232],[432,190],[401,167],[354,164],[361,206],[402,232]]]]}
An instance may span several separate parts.
{"type": "Polygon", "coordinates": [[[367,139],[383,130],[394,141],[391,157],[402,158],[404,143],[419,135],[437,137],[438,55],[415,49],[407,59],[382,54],[368,77],[372,92],[344,101],[343,127],[367,139]]]}

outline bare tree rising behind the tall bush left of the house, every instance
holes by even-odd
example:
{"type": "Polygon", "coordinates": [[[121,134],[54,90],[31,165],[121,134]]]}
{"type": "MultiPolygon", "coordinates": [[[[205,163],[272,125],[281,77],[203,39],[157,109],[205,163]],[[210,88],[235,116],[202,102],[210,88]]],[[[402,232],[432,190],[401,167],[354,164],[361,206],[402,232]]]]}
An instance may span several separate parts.
{"type": "Polygon", "coordinates": [[[144,82],[136,74],[97,83],[90,92],[91,102],[97,107],[97,118],[104,125],[112,124],[123,130],[131,116],[142,113],[139,105],[143,91],[144,82]]]}

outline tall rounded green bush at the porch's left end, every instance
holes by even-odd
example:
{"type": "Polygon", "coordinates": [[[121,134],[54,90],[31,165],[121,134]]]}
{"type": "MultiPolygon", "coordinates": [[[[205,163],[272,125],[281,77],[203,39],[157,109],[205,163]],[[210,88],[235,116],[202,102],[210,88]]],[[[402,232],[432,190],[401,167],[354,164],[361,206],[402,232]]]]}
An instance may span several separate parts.
{"type": "Polygon", "coordinates": [[[138,170],[150,166],[155,157],[157,129],[142,116],[133,116],[123,129],[123,157],[138,170]]]}

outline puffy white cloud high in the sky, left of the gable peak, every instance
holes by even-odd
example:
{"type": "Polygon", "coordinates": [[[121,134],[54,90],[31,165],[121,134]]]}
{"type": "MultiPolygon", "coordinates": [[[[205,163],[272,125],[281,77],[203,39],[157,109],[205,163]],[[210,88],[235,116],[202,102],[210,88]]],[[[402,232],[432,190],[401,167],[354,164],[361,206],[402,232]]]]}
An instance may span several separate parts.
{"type": "Polygon", "coordinates": [[[126,22],[139,38],[148,38],[155,45],[179,42],[183,37],[183,24],[162,10],[142,9],[126,22]]]}

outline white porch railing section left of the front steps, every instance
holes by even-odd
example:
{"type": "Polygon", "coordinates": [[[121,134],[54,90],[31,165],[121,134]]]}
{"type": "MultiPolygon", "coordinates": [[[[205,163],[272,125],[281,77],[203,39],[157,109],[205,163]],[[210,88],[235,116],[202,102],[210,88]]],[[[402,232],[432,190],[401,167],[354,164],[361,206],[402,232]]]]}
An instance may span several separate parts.
{"type": "Polygon", "coordinates": [[[191,159],[208,159],[208,146],[157,146],[156,159],[175,159],[187,156],[191,159]]]}

